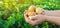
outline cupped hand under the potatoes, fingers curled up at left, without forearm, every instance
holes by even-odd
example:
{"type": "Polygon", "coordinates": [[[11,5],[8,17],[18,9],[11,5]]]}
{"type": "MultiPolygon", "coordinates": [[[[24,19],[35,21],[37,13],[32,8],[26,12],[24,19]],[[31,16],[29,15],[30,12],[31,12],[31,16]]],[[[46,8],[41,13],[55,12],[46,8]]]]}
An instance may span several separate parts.
{"type": "Polygon", "coordinates": [[[44,15],[36,15],[34,17],[32,17],[31,19],[27,17],[27,10],[24,12],[24,17],[26,22],[28,22],[29,24],[31,24],[32,26],[36,25],[36,24],[40,24],[41,22],[45,21],[44,15]]]}

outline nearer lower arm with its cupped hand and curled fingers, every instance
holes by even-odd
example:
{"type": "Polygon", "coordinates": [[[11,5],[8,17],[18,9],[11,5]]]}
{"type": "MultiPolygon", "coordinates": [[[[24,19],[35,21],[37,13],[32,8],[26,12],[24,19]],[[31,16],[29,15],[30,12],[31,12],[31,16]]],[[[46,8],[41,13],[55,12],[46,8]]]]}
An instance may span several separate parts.
{"type": "Polygon", "coordinates": [[[50,15],[53,15],[53,16],[37,15],[37,16],[32,17],[32,19],[37,19],[37,20],[32,21],[26,16],[27,15],[26,13],[24,13],[25,20],[32,25],[40,24],[43,21],[47,21],[47,22],[51,22],[51,23],[55,23],[57,25],[60,25],[60,17],[58,17],[54,14],[50,14],[50,15]]]}

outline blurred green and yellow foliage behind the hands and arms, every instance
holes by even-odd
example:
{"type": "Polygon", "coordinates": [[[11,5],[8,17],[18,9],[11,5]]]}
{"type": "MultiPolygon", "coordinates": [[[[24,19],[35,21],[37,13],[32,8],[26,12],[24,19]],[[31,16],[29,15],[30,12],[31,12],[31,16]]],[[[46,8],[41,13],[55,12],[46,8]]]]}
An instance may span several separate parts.
{"type": "Polygon", "coordinates": [[[0,0],[0,28],[60,28],[49,22],[36,26],[27,23],[23,14],[31,5],[45,10],[59,10],[60,0],[0,0]]]}

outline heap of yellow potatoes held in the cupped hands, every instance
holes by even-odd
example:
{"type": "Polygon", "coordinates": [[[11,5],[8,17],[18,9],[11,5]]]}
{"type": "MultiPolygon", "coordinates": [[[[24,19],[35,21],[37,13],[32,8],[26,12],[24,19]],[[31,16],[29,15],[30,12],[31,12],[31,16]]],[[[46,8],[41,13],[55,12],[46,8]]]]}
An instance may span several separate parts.
{"type": "Polygon", "coordinates": [[[30,6],[28,9],[28,17],[31,19],[31,17],[38,15],[38,14],[44,14],[42,8],[37,8],[35,6],[30,6]]]}

